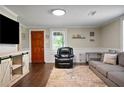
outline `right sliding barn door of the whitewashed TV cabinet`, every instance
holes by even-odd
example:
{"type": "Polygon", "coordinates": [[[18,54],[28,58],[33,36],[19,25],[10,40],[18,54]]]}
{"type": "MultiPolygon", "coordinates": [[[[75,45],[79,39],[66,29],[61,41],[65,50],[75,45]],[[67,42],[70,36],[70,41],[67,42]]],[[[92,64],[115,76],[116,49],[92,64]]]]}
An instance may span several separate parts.
{"type": "Polygon", "coordinates": [[[29,72],[29,54],[25,53],[23,54],[23,74],[26,74],[29,72]]]}

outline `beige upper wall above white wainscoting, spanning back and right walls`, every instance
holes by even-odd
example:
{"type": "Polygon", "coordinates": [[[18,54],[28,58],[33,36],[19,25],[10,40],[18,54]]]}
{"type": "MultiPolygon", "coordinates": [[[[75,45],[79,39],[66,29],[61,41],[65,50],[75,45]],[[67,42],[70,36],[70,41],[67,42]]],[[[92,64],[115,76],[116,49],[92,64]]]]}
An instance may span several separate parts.
{"type": "MultiPolygon", "coordinates": [[[[67,45],[73,48],[110,48],[120,49],[120,20],[116,20],[101,28],[67,28],[67,45]],[[95,32],[90,37],[90,32],[95,32]],[[72,36],[80,34],[86,39],[73,39],[72,36]],[[91,42],[90,39],[94,39],[91,42]]],[[[45,31],[45,48],[51,48],[51,31],[45,31]]]]}

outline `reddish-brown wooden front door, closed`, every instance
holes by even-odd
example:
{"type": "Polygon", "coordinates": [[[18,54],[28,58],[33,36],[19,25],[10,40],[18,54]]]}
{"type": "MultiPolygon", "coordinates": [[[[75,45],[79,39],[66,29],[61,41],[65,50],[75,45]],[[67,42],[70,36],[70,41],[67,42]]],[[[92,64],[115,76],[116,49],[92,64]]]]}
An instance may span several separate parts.
{"type": "Polygon", "coordinates": [[[44,63],[44,31],[31,32],[32,63],[44,63]]]}

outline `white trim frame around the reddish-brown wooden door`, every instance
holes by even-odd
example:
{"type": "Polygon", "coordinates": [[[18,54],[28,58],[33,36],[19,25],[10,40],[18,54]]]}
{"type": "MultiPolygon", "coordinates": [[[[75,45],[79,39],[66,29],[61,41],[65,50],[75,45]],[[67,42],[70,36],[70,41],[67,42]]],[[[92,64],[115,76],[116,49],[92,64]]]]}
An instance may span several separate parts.
{"type": "Polygon", "coordinates": [[[30,53],[29,53],[29,61],[30,61],[30,63],[32,63],[32,54],[31,54],[31,50],[32,50],[32,48],[31,48],[31,32],[37,32],[37,31],[43,31],[44,32],[44,63],[45,63],[45,47],[46,47],[46,45],[45,45],[45,41],[46,41],[46,30],[45,29],[30,29],[29,30],[29,50],[30,50],[30,53]]]}

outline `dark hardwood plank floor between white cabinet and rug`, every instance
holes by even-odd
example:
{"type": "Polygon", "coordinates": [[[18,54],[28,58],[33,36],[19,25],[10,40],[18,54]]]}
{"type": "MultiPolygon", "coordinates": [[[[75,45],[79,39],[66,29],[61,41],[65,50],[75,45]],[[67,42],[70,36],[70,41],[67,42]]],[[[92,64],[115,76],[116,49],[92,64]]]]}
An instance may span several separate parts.
{"type": "Polygon", "coordinates": [[[30,72],[12,87],[45,87],[54,64],[30,64],[30,72]]]}

